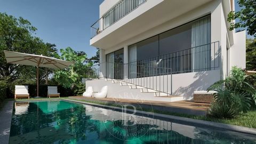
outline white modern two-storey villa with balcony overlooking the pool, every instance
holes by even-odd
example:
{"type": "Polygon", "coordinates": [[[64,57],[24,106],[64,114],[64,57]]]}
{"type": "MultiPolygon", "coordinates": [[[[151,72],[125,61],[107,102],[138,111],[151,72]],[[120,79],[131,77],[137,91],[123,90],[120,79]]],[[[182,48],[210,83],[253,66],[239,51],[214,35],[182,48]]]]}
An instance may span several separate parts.
{"type": "Polygon", "coordinates": [[[193,99],[245,68],[245,31],[228,29],[234,0],[105,0],[91,26],[100,49],[94,91],[107,98],[151,101],[193,99]]]}

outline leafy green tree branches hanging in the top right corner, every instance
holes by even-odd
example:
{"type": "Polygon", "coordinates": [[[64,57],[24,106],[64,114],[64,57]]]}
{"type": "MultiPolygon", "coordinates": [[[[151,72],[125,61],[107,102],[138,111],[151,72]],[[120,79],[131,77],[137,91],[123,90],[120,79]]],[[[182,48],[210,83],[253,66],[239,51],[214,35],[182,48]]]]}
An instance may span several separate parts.
{"type": "Polygon", "coordinates": [[[247,28],[247,33],[256,37],[256,1],[238,0],[237,3],[242,9],[238,12],[231,11],[228,14],[228,22],[230,22],[229,30],[247,28]],[[234,22],[236,19],[238,21],[234,22]]]}

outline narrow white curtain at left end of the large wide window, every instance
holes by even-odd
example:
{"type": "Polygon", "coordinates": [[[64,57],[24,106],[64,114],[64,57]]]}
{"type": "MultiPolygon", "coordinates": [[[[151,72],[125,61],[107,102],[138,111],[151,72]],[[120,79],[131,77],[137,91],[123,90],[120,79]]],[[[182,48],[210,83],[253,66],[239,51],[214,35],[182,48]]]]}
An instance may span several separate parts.
{"type": "Polygon", "coordinates": [[[129,47],[129,77],[137,77],[137,45],[129,47]]]}

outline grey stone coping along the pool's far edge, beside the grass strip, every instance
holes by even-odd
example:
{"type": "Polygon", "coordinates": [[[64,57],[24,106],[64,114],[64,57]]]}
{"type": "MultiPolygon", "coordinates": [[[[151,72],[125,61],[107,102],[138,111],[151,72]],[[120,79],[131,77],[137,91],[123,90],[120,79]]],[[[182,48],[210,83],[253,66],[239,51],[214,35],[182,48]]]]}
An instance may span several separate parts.
{"type": "MultiPolygon", "coordinates": [[[[45,99],[45,100],[47,100],[47,99],[45,99]]],[[[87,105],[93,105],[93,106],[99,106],[99,107],[106,107],[106,108],[111,108],[111,109],[122,110],[122,108],[120,108],[120,107],[100,105],[98,103],[84,102],[84,101],[71,100],[71,99],[61,99],[61,98],[59,98],[59,99],[49,99],[49,100],[64,100],[64,101],[83,103],[83,104],[87,104],[87,105]]],[[[24,101],[43,101],[43,100],[21,100],[21,101],[14,101],[14,102],[24,102],[24,101]]],[[[129,111],[129,112],[133,113],[132,109],[126,109],[126,111],[129,111]]],[[[217,123],[217,122],[204,121],[204,120],[200,120],[200,119],[193,119],[193,118],[187,118],[187,117],[152,113],[152,112],[142,111],[142,110],[136,110],[136,113],[150,115],[150,116],[153,116],[153,117],[157,116],[157,117],[162,117],[162,118],[167,118],[167,119],[173,119],[175,121],[182,121],[182,122],[202,125],[202,126],[206,126],[206,127],[215,127],[215,128],[218,128],[218,129],[225,129],[225,130],[230,130],[230,131],[235,131],[235,132],[240,132],[240,133],[247,133],[247,134],[256,135],[256,129],[250,128],[250,127],[245,127],[245,126],[223,124],[223,123],[217,123]]]]}

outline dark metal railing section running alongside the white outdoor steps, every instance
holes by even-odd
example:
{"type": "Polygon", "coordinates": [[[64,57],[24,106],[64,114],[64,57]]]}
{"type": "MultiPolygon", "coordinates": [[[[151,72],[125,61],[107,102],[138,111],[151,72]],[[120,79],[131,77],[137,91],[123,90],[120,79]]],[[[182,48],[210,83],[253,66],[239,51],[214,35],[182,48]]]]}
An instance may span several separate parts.
{"type": "MultiPolygon", "coordinates": [[[[145,89],[154,90],[156,93],[159,93],[159,96],[161,93],[165,93],[166,95],[172,95],[172,68],[152,67],[152,66],[135,65],[131,63],[129,64],[129,63],[118,63],[118,62],[102,62],[100,63],[100,65],[107,66],[107,64],[109,63],[111,63],[113,67],[117,67],[118,68],[117,71],[120,70],[121,73],[118,73],[119,75],[117,77],[115,76],[109,77],[107,74],[108,72],[106,71],[106,75],[99,78],[116,79],[117,81],[130,83],[130,84],[133,84],[134,86],[142,86],[142,87],[145,87],[145,89]],[[125,76],[124,75],[125,67],[128,68],[131,65],[134,65],[136,67],[142,67],[144,70],[141,72],[136,71],[135,73],[130,73],[135,77],[133,76],[130,77],[130,74],[127,74],[125,76]],[[164,77],[166,79],[163,79],[164,77]],[[154,82],[154,79],[155,79],[154,84],[158,84],[158,85],[154,85],[153,83],[150,82],[150,80],[154,82]],[[160,86],[161,84],[165,84],[166,86],[161,87],[160,86]]],[[[107,67],[105,70],[107,70],[107,67]]]]}

